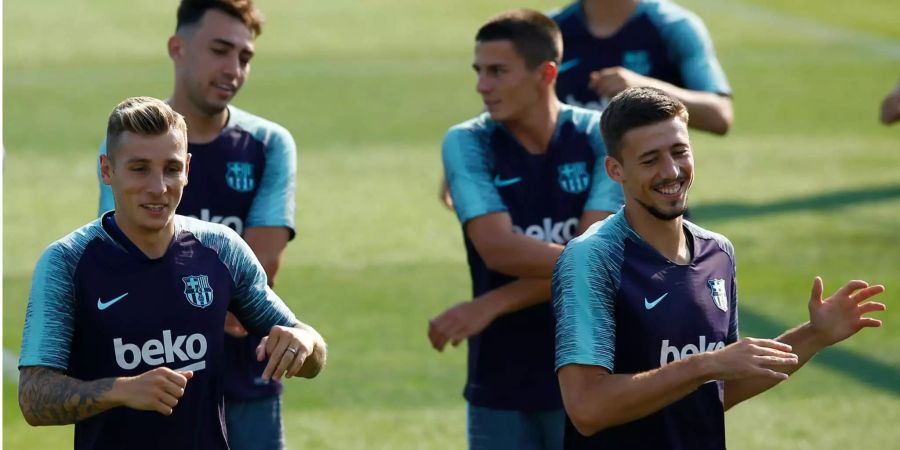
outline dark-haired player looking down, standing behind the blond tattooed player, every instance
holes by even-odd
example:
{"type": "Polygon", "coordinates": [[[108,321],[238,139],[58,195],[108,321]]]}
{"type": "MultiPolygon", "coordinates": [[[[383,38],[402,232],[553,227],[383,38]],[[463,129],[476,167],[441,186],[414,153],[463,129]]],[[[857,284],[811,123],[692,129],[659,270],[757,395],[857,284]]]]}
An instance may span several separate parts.
{"type": "MultiPolygon", "coordinates": [[[[283,127],[230,105],[249,76],[261,27],[251,1],[183,0],[168,41],[175,84],[167,102],[187,121],[192,155],[190,184],[177,212],[233,228],[274,287],[294,236],[296,148],[283,127]]],[[[100,183],[100,213],[112,208],[112,193],[100,183]]],[[[244,337],[234,316],[226,317],[229,444],[234,450],[282,448],[282,386],[261,378],[258,338],[244,337]]]]}

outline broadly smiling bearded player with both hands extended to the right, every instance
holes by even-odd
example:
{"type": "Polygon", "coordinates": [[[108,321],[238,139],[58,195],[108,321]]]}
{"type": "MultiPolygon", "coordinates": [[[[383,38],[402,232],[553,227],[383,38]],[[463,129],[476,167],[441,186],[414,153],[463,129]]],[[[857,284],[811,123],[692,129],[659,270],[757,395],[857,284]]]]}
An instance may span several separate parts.
{"type": "Polygon", "coordinates": [[[553,274],[567,449],[724,449],[724,411],[822,348],[881,321],[880,285],[850,281],[776,339],[738,339],[734,249],[682,220],[694,180],[688,113],[631,88],[603,113],[609,176],[625,207],[566,247],[553,274]]]}

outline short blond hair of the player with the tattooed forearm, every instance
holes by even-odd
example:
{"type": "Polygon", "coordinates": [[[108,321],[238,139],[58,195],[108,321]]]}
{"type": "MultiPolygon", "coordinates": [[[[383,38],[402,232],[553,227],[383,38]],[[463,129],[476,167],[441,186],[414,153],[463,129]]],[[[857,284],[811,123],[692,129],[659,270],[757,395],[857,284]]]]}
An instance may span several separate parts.
{"type": "Polygon", "coordinates": [[[187,124],[184,117],[166,102],[153,97],[131,97],[116,105],[106,125],[106,155],[113,159],[125,132],[141,136],[160,136],[175,131],[179,144],[187,150],[187,124]]]}

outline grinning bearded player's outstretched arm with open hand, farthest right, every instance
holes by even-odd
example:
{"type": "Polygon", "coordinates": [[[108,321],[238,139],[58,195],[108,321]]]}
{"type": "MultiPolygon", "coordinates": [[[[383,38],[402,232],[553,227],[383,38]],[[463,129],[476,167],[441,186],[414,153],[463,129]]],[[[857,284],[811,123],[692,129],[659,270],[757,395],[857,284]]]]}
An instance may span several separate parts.
{"type": "MultiPolygon", "coordinates": [[[[777,338],[790,345],[798,357],[798,364],[778,368],[785,375],[794,373],[819,350],[843,341],[863,328],[881,326],[880,320],[864,315],[884,311],[884,304],[866,301],[884,292],[884,286],[869,286],[865,281],[853,280],[825,300],[822,300],[822,291],[822,279],[816,277],[809,299],[809,322],[777,338]]],[[[726,382],[725,409],[765,392],[780,381],[771,377],[750,377],[726,382]]]]}

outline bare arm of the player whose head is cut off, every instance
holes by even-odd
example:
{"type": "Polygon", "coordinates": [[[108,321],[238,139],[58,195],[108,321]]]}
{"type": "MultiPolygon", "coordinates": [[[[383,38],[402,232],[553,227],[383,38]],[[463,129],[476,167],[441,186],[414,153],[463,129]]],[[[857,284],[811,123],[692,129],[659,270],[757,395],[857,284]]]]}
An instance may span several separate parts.
{"type": "Polygon", "coordinates": [[[666,91],[680,100],[690,114],[690,126],[724,135],[731,128],[734,111],[731,98],[714,92],[694,91],[646,77],[624,67],[610,67],[591,74],[590,87],[599,95],[612,98],[629,87],[647,86],[666,91]]]}

